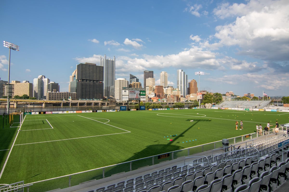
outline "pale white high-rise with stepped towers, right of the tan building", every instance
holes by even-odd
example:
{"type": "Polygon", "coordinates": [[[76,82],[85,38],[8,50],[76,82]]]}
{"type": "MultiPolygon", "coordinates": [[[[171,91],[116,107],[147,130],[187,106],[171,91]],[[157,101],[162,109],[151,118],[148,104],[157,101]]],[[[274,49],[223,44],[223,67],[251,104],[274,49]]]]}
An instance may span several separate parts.
{"type": "Polygon", "coordinates": [[[38,75],[38,78],[33,79],[33,97],[36,99],[46,99],[47,85],[50,79],[44,75],[38,75]]]}

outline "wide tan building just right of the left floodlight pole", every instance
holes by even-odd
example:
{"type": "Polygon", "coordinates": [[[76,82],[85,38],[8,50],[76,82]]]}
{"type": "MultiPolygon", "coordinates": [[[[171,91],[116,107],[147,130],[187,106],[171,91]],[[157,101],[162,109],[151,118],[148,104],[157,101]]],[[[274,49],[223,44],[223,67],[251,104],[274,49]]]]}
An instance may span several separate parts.
{"type": "Polygon", "coordinates": [[[29,81],[11,81],[11,84],[14,85],[14,96],[23,96],[24,94],[29,97],[33,97],[33,84],[29,81]]]}

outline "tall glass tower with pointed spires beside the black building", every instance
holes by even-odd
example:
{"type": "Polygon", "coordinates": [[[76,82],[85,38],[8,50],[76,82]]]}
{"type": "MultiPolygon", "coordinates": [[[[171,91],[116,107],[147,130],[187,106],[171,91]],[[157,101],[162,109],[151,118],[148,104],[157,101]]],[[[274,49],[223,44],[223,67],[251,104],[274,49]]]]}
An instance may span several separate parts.
{"type": "Polygon", "coordinates": [[[114,98],[115,57],[107,59],[100,57],[100,66],[103,66],[103,96],[114,98]]]}

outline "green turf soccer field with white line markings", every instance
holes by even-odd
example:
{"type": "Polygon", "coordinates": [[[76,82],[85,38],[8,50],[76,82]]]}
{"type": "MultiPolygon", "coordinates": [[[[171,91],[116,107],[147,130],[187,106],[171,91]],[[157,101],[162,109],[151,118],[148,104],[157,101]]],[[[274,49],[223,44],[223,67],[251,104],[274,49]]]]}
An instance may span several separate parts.
{"type": "Polygon", "coordinates": [[[176,151],[254,133],[256,124],[264,128],[268,121],[273,128],[276,120],[289,123],[289,113],[187,109],[26,115],[21,131],[0,130],[0,183],[32,183],[176,151]],[[244,129],[235,130],[241,120],[244,129]]]}

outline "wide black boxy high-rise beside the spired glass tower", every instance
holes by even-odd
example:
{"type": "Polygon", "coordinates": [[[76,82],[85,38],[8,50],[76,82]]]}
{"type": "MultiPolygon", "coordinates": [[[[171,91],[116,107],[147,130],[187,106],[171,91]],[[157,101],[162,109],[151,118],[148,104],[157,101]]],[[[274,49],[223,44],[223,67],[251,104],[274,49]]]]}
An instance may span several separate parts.
{"type": "MultiPolygon", "coordinates": [[[[77,79],[75,82],[77,98],[103,99],[103,66],[94,63],[80,63],[76,66],[77,79]]],[[[71,82],[71,83],[73,83],[71,82]]],[[[74,90],[74,88],[71,89],[74,90]]]]}

